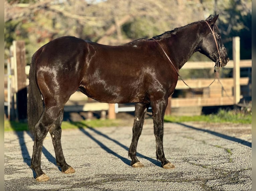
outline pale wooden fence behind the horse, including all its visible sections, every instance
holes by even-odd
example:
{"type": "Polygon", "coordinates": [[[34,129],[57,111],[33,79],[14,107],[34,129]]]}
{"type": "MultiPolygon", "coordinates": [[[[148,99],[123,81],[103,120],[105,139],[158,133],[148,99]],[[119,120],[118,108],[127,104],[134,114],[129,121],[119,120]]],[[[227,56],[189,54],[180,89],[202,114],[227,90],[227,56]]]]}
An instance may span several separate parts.
{"type": "MultiPolygon", "coordinates": [[[[24,104],[24,87],[28,85],[28,66],[25,67],[25,51],[24,42],[13,42],[11,48],[12,55],[10,57],[10,63],[7,70],[5,81],[5,106],[8,107],[8,119],[17,119],[19,116],[24,118],[26,110],[26,104],[24,104]],[[26,74],[25,74],[26,69],[26,74]],[[16,71],[16,72],[15,72],[16,71]],[[24,78],[25,77],[25,78],[24,78]],[[8,88],[7,88],[8,87],[8,88]],[[21,92],[21,93],[20,93],[21,92]],[[20,94],[20,95],[18,95],[20,94]],[[20,100],[19,100],[20,99],[20,100]],[[19,105],[18,103],[23,103],[19,105]],[[20,108],[18,111],[18,108],[20,108]],[[11,117],[11,116],[15,117],[11,117]]],[[[201,95],[194,97],[184,98],[169,98],[168,106],[166,108],[166,114],[171,113],[171,108],[184,107],[184,106],[214,106],[214,105],[233,105],[237,104],[242,98],[240,88],[241,86],[250,86],[250,78],[240,78],[241,68],[251,68],[251,60],[240,60],[240,39],[239,37],[233,38],[233,60],[225,66],[225,68],[233,69],[233,78],[222,78],[220,82],[218,79],[210,86],[207,87],[214,79],[187,79],[185,82],[193,89],[202,91],[201,95]],[[207,87],[207,88],[204,88],[207,87]]],[[[182,70],[187,69],[213,69],[214,62],[187,62],[182,70]]],[[[250,86],[251,87],[251,86],[250,86]]],[[[178,80],[176,90],[186,90],[188,87],[178,80]]],[[[249,90],[251,92],[251,89],[249,90]]],[[[116,113],[120,111],[133,111],[134,106],[131,107],[119,107],[118,104],[107,104],[100,102],[88,101],[85,95],[81,95],[81,92],[76,92],[71,96],[70,100],[64,107],[64,111],[67,112],[79,112],[79,111],[101,111],[103,116],[106,116],[108,111],[108,118],[116,118],[116,113]]]]}

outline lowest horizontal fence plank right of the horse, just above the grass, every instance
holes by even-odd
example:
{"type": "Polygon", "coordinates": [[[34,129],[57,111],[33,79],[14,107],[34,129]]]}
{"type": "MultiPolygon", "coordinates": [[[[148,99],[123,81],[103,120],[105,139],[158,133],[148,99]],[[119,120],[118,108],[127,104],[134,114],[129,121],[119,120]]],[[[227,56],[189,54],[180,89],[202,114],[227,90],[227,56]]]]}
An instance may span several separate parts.
{"type": "Polygon", "coordinates": [[[171,98],[172,107],[233,105],[233,97],[217,98],[171,98]]]}

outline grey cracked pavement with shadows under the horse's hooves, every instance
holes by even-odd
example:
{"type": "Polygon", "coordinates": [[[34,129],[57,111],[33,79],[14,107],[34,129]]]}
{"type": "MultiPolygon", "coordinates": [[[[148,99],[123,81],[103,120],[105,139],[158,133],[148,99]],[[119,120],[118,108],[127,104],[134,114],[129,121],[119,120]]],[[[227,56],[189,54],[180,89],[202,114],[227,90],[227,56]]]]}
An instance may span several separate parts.
{"type": "MultiPolygon", "coordinates": [[[[151,119],[152,120],[152,119],[151,119]]],[[[202,122],[165,123],[165,156],[175,169],[163,169],[155,157],[152,121],[146,119],[137,156],[144,168],[132,168],[128,148],[132,127],[78,128],[62,131],[62,148],[76,172],[56,166],[49,134],[42,151],[47,182],[30,169],[33,140],[26,131],[5,132],[5,190],[251,190],[251,125],[202,122]]]]}

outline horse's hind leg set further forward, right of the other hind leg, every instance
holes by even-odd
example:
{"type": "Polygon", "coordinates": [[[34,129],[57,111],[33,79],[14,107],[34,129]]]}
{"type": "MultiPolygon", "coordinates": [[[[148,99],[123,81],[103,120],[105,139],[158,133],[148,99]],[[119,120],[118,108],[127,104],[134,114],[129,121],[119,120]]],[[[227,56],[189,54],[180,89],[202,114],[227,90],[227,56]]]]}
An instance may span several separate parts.
{"type": "Polygon", "coordinates": [[[57,165],[60,166],[62,172],[66,173],[66,174],[70,174],[70,173],[74,173],[75,170],[70,165],[68,165],[66,163],[64,155],[63,155],[61,141],[60,141],[62,120],[63,120],[63,109],[60,112],[59,117],[57,118],[56,122],[51,126],[49,132],[51,135],[52,144],[53,144],[54,151],[55,151],[57,165]]]}

